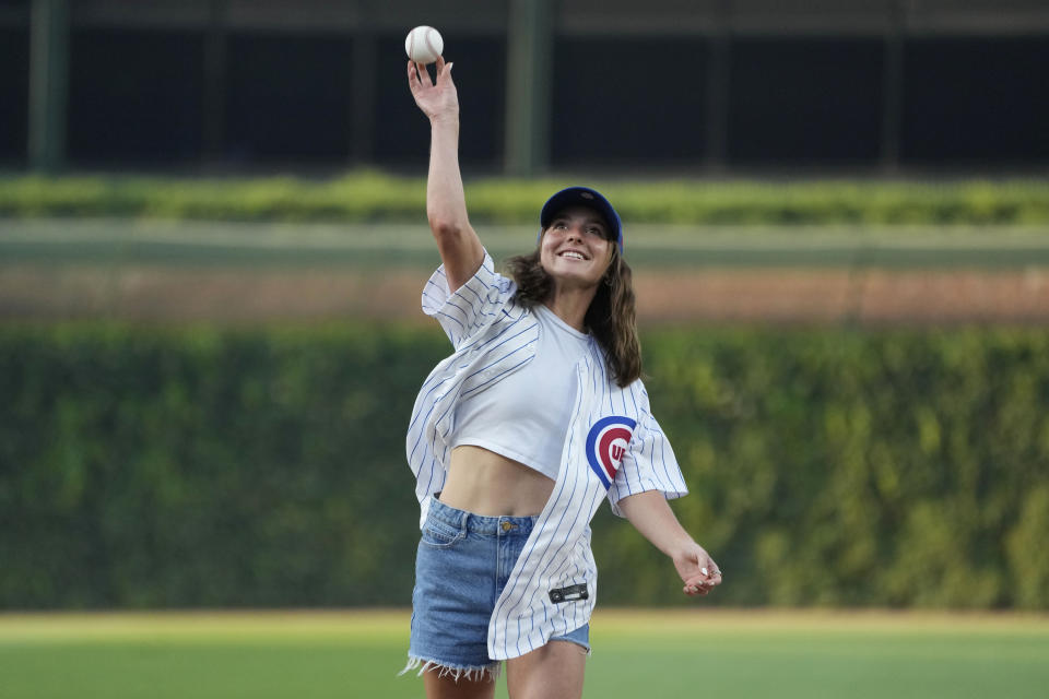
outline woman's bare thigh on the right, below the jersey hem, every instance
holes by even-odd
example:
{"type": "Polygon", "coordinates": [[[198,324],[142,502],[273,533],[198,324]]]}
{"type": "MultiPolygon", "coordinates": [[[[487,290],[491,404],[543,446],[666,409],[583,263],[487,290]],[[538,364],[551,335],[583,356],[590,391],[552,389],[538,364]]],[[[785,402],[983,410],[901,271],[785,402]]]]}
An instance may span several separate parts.
{"type": "Polygon", "coordinates": [[[579,699],[587,651],[571,641],[550,641],[506,661],[510,699],[579,699]]]}

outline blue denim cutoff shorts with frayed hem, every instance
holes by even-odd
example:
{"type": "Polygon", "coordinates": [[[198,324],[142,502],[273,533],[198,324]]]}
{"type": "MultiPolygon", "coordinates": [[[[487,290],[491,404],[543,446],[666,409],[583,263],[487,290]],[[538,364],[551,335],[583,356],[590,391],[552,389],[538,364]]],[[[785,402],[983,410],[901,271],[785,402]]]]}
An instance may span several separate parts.
{"type": "MultiPolygon", "coordinates": [[[[488,657],[488,620],[535,517],[481,517],[431,499],[415,557],[412,635],[404,672],[440,667],[443,674],[495,677],[488,657]]],[[[552,641],[590,652],[590,626],[552,641]]]]}

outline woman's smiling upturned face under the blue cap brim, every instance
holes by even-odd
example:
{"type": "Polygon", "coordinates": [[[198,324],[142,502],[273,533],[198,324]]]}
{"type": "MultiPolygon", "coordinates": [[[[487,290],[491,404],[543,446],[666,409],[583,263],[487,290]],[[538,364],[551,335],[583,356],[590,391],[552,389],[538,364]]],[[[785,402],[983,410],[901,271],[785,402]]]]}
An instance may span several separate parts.
{"type": "Polygon", "coordinates": [[[597,286],[609,269],[614,246],[604,218],[592,209],[569,206],[543,232],[539,260],[561,284],[597,286]]]}

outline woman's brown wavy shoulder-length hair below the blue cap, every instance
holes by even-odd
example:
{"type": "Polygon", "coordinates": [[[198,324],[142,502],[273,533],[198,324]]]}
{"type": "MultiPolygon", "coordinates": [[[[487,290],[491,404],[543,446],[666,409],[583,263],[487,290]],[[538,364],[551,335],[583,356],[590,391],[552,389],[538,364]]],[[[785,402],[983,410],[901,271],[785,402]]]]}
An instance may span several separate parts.
{"type": "MultiPolygon", "coordinates": [[[[531,308],[550,298],[554,280],[540,263],[537,248],[506,261],[506,270],[517,282],[515,298],[531,308]]],[[[584,318],[586,331],[604,351],[609,372],[620,388],[626,388],[641,376],[641,343],[637,339],[637,311],[634,297],[634,273],[613,242],[612,261],[598,284],[584,318]]]]}

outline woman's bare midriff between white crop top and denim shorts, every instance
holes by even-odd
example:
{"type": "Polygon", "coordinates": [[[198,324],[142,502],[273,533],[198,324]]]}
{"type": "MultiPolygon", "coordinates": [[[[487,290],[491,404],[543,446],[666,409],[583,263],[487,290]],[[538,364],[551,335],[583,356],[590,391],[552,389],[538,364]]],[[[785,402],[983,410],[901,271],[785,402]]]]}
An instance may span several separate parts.
{"type": "Polygon", "coordinates": [[[438,499],[484,517],[530,517],[543,511],[553,491],[553,479],[539,471],[481,447],[462,446],[451,451],[438,499]]]}

